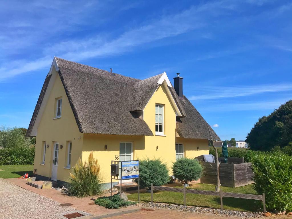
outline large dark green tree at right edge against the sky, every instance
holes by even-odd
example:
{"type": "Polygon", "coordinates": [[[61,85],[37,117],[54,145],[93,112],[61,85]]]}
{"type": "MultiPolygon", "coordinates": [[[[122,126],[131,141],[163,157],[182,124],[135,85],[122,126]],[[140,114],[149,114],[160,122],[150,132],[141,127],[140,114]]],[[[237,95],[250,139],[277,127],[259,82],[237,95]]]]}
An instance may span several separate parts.
{"type": "Polygon", "coordinates": [[[292,141],[292,100],[264,116],[251,129],[246,142],[252,150],[269,151],[292,141]]]}

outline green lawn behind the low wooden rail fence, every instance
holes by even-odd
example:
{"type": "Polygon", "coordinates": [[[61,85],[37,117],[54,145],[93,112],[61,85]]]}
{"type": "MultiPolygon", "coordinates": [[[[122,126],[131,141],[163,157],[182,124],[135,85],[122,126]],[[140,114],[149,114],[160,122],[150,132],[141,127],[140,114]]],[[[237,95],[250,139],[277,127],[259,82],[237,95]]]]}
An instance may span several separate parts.
{"type": "MultiPolygon", "coordinates": [[[[183,187],[181,187],[183,188],[183,187]]],[[[195,184],[189,189],[197,190],[210,190],[214,191],[215,186],[209,184],[195,184]]],[[[238,188],[223,187],[221,189],[224,192],[235,192],[244,194],[256,194],[253,190],[252,185],[242,186],[238,188]]],[[[138,194],[129,194],[128,199],[132,201],[138,201],[138,194]]],[[[140,201],[148,202],[151,199],[150,193],[140,193],[140,201]]],[[[197,195],[197,194],[187,194],[187,205],[188,206],[201,206],[209,208],[220,208],[220,197],[211,195],[197,195]]],[[[183,193],[180,192],[161,192],[157,191],[153,194],[153,201],[168,204],[179,204],[183,205],[183,193]]],[[[263,211],[263,205],[261,201],[250,200],[250,199],[238,199],[238,198],[223,198],[223,208],[227,210],[236,211],[263,211]]]]}

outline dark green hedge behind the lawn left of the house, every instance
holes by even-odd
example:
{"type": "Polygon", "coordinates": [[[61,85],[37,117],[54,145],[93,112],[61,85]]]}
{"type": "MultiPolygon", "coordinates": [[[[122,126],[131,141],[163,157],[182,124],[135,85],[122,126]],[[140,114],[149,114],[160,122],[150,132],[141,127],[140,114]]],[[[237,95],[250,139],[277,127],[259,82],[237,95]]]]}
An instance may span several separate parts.
{"type": "Polygon", "coordinates": [[[0,149],[0,165],[34,164],[35,147],[12,147],[0,149]]]}

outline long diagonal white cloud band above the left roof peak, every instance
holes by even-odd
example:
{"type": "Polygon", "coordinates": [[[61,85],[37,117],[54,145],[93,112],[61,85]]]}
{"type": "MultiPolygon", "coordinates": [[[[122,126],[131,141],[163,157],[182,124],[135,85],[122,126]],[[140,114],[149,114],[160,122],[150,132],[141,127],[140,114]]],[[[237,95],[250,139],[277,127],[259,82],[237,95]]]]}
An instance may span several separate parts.
{"type": "Polygon", "coordinates": [[[45,47],[42,51],[44,56],[39,59],[21,60],[22,63],[25,63],[21,65],[3,63],[0,66],[0,81],[18,74],[49,67],[53,59],[52,54],[73,61],[118,55],[137,46],[205,27],[208,22],[211,22],[211,18],[223,15],[234,8],[235,6],[228,1],[207,3],[193,6],[177,14],[162,15],[156,20],[130,29],[111,40],[108,39],[109,34],[107,34],[107,37],[97,35],[89,39],[62,41],[45,47]]]}

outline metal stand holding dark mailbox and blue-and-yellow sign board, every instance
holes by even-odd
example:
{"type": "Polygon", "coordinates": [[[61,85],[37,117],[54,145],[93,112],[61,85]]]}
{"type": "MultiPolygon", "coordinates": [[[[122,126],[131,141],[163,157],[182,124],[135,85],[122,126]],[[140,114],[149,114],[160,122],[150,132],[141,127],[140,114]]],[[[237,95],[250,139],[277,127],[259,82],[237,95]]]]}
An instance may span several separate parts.
{"type": "Polygon", "coordinates": [[[111,164],[111,181],[110,181],[110,199],[112,200],[112,180],[120,180],[120,196],[122,198],[122,180],[138,178],[138,203],[140,203],[140,174],[139,160],[130,161],[112,161],[111,164]],[[119,171],[119,164],[121,171],[119,171]],[[119,173],[120,172],[120,173],[119,173]],[[123,173],[124,172],[124,173],[123,173]],[[120,176],[120,179],[119,179],[120,176]]]}

